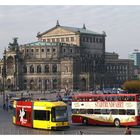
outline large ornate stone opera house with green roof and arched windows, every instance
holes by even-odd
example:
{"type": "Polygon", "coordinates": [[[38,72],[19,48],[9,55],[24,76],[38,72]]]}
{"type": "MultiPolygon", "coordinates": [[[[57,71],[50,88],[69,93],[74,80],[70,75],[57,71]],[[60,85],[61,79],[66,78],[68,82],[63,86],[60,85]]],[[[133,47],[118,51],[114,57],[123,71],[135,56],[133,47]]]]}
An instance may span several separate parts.
{"type": "Polygon", "coordinates": [[[60,26],[38,33],[38,41],[14,38],[0,62],[0,86],[19,90],[90,90],[102,87],[105,32],[60,26]]]}

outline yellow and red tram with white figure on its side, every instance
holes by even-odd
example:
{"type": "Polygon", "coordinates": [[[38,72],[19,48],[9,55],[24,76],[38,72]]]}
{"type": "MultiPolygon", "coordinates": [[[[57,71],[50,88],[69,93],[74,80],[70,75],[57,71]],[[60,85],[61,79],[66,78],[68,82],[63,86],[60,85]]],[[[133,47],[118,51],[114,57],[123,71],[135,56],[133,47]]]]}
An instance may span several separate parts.
{"type": "Polygon", "coordinates": [[[13,123],[40,128],[63,129],[69,127],[67,105],[60,101],[14,101],[13,123]]]}

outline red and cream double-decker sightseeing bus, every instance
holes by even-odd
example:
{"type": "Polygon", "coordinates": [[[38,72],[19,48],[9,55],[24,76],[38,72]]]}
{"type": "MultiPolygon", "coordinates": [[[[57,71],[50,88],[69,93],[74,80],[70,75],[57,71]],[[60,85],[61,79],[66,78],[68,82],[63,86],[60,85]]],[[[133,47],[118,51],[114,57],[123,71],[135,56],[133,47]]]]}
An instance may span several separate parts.
{"type": "Polygon", "coordinates": [[[139,94],[90,94],[72,97],[72,123],[140,125],[139,94]]]}

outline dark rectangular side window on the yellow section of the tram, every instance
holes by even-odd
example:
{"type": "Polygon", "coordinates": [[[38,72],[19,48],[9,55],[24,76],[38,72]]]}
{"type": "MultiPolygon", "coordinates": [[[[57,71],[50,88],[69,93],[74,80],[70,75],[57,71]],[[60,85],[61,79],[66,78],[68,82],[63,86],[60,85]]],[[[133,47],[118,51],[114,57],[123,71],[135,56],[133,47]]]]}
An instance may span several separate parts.
{"type": "Polygon", "coordinates": [[[50,111],[46,110],[34,110],[34,119],[35,120],[50,120],[50,111]]]}

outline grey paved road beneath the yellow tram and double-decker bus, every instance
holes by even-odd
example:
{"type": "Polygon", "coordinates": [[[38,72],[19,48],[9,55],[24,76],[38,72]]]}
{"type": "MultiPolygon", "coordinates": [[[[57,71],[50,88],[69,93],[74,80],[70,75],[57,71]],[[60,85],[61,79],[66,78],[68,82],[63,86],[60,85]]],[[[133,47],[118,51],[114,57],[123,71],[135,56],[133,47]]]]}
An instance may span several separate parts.
{"type": "MultiPolygon", "coordinates": [[[[12,124],[13,110],[5,111],[2,109],[2,97],[0,97],[0,134],[2,135],[80,135],[80,131],[84,135],[123,135],[125,127],[113,126],[86,126],[81,124],[70,123],[70,128],[67,130],[47,131],[33,129],[27,127],[16,126],[12,124]]],[[[69,106],[69,118],[70,118],[69,106]]],[[[70,121],[71,122],[71,121],[70,121]]],[[[140,127],[132,127],[132,134],[139,135],[140,127]]]]}

